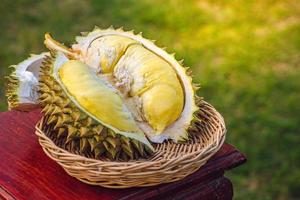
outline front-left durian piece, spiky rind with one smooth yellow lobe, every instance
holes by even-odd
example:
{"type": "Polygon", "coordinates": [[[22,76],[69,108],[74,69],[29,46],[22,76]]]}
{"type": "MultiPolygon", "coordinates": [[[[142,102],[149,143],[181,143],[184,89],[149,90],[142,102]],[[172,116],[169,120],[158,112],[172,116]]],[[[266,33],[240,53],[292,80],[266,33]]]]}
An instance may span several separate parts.
{"type": "Polygon", "coordinates": [[[58,52],[40,74],[40,104],[47,126],[63,147],[92,157],[129,160],[154,149],[121,96],[81,61],[58,52]]]}

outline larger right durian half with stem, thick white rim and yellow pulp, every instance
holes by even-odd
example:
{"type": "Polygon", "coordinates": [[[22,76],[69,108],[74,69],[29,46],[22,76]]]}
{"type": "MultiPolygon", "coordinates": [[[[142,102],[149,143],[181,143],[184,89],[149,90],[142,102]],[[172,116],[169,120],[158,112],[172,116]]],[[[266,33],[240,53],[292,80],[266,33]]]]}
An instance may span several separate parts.
{"type": "MultiPolygon", "coordinates": [[[[46,46],[60,50],[62,45],[47,35],[46,46]]],[[[85,63],[121,96],[137,126],[154,143],[188,139],[196,111],[197,86],[191,72],[153,41],[122,29],[95,28],[76,37],[68,57],[85,63]]]]}

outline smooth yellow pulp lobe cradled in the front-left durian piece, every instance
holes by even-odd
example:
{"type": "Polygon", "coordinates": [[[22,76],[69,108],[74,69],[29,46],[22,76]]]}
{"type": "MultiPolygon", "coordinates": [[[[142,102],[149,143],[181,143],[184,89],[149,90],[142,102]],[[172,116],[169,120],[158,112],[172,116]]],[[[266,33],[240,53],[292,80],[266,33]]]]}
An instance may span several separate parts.
{"type": "MultiPolygon", "coordinates": [[[[63,55],[61,55],[63,56],[63,55]]],[[[60,60],[60,56],[57,57],[60,60]]],[[[56,62],[56,78],[66,94],[94,120],[117,134],[136,139],[153,147],[136,125],[123,100],[109,83],[97,77],[84,63],[76,60],[56,62]]]]}

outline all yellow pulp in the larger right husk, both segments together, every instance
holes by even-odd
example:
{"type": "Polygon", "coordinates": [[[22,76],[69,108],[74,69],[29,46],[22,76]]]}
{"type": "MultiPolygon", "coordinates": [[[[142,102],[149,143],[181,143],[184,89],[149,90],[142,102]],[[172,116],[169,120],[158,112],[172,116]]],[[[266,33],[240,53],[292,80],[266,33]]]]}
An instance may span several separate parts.
{"type": "Polygon", "coordinates": [[[173,67],[163,58],[140,43],[117,35],[93,41],[87,55],[87,64],[99,65],[102,73],[113,73],[117,81],[132,79],[132,83],[123,84],[130,85],[130,97],[141,98],[143,118],[155,134],[162,133],[180,116],[184,106],[183,89],[173,67]],[[119,77],[118,72],[130,77],[119,77]]]}

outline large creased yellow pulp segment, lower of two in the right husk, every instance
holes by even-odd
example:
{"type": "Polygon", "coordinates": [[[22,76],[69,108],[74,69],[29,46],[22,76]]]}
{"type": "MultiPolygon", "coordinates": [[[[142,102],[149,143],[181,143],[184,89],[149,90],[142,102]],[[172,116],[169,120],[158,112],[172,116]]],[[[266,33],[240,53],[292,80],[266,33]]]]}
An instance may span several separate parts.
{"type": "Polygon", "coordinates": [[[142,45],[128,47],[115,67],[114,76],[118,85],[129,86],[126,90],[130,97],[141,99],[144,118],[156,135],[180,116],[184,95],[176,72],[142,45]],[[130,84],[126,83],[128,80],[130,84]]]}

